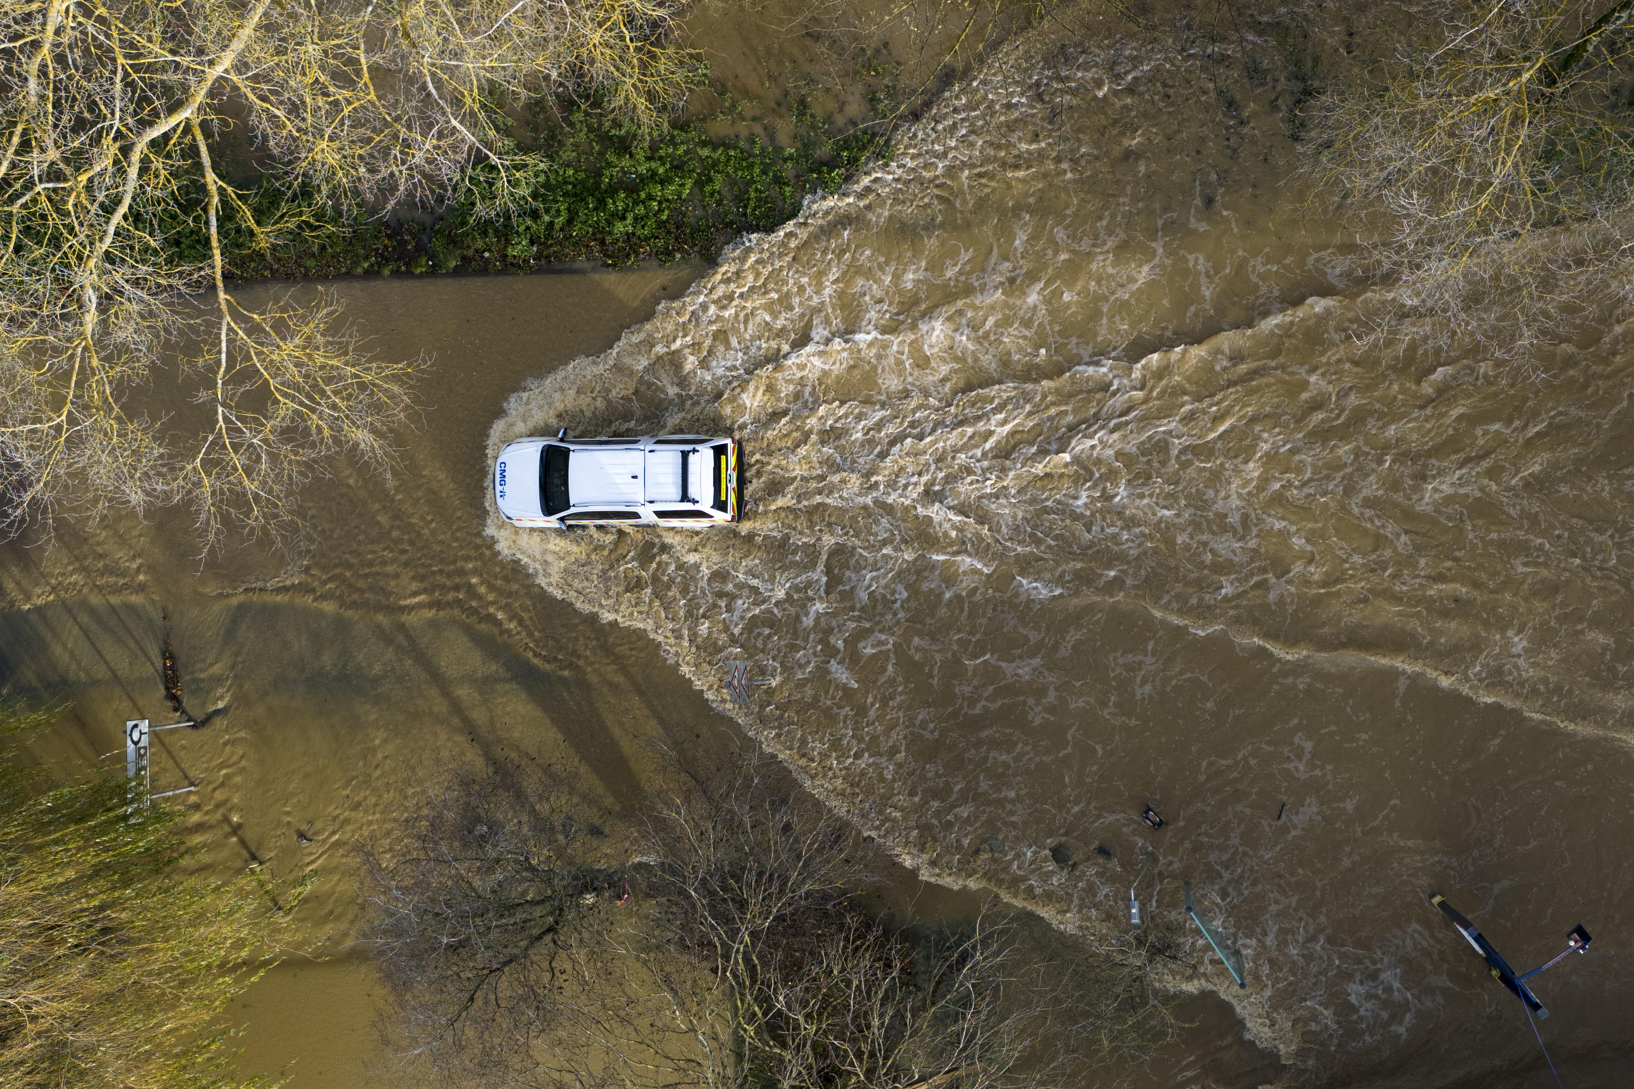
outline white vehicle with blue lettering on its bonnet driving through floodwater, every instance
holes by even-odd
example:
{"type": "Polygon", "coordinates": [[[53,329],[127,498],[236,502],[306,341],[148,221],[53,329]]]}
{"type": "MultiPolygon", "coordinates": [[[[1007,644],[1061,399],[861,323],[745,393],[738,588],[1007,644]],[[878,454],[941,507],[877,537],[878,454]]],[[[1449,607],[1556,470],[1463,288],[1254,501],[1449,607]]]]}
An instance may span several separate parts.
{"type": "Polygon", "coordinates": [[[735,522],[737,441],[513,439],[493,464],[493,500],[513,526],[712,526],[735,522]]]}

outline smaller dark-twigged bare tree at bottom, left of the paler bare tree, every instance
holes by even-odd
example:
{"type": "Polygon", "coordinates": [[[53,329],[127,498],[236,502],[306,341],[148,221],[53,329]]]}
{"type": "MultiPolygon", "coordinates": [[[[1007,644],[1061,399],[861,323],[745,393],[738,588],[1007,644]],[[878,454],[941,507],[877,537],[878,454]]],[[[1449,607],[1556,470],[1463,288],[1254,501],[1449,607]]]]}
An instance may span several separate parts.
{"type": "Polygon", "coordinates": [[[531,1068],[572,1020],[562,988],[600,949],[623,872],[598,864],[587,803],[551,776],[459,772],[415,792],[361,852],[364,926],[395,1009],[389,1050],[451,1081],[531,1068]]]}

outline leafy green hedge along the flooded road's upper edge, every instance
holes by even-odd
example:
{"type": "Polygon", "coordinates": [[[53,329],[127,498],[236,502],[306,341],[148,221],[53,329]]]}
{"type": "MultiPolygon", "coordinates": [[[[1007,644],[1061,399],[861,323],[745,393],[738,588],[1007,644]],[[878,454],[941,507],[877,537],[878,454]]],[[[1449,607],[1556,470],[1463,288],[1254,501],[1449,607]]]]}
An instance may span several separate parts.
{"type": "MultiPolygon", "coordinates": [[[[346,222],[333,207],[275,180],[245,194],[255,219],[270,224],[268,248],[240,216],[224,216],[221,240],[235,279],[364,276],[426,271],[521,273],[559,261],[613,266],[642,260],[712,260],[743,232],[770,230],[794,217],[809,193],[833,191],[884,142],[868,132],[830,137],[809,109],[796,109],[796,139],[716,139],[696,124],[657,134],[574,109],[515,178],[516,209],[480,216],[495,186],[492,167],[471,173],[469,189],[426,227],[407,220],[346,222]],[[309,227],[279,227],[291,219],[309,227]]],[[[208,255],[199,214],[160,224],[165,245],[183,260],[208,255]]]]}

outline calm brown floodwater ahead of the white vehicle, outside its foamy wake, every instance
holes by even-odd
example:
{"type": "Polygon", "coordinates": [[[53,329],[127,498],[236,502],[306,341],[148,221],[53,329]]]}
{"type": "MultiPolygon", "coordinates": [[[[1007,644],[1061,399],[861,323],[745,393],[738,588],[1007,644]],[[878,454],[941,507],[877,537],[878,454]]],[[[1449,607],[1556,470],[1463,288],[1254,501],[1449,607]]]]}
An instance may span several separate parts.
{"type": "Polygon", "coordinates": [[[451,766],[552,761],[618,820],[663,780],[659,746],[709,759],[730,743],[732,725],[650,638],[495,557],[482,495],[464,485],[518,382],[605,349],[699,271],[340,284],[376,351],[435,362],[392,480],[342,472],[309,488],[309,549],[294,563],[243,542],[199,563],[178,511],[0,547],[0,687],[72,702],[33,754],[72,767],[113,753],[123,766],[126,718],[175,720],[168,637],[186,709],[208,725],[154,735],[154,789],[198,787],[168,803],[188,807],[222,872],[260,862],[276,887],[319,875],[297,913],[304,949],[230,1011],[248,1027],[240,1069],[294,1061],[294,1089],[374,1081],[377,988],[348,950],[350,851],[415,784],[451,766]]]}

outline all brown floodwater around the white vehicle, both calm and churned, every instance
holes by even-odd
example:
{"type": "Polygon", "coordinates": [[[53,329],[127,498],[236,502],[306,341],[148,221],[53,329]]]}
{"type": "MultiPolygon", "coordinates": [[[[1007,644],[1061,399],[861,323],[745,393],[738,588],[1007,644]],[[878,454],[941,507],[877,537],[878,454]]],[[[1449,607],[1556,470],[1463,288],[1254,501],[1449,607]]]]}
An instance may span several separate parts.
{"type": "Polygon", "coordinates": [[[1536,384],[1415,327],[1240,72],[1044,33],[716,269],[340,284],[436,364],[392,480],[312,487],[294,563],[188,560],[178,513],[0,549],[0,682],[74,702],[33,751],[167,720],[168,633],[212,717],[157,735],[155,789],[198,785],[211,864],[319,873],[240,1068],[381,1081],[348,852],[413,784],[552,761],[618,820],[730,713],[923,875],[1064,929],[1126,929],[1145,857],[1149,918],[1190,883],[1248,986],[1193,939],[1194,1027],[1106,1084],[1552,1084],[1433,890],[1521,967],[1588,924],[1539,1030],[1567,1084],[1627,1084],[1631,315],[1536,384]],[[492,444],[559,426],[730,429],[743,524],[495,524],[492,444]],[[750,710],[730,658],[775,681],[750,710]]]}

